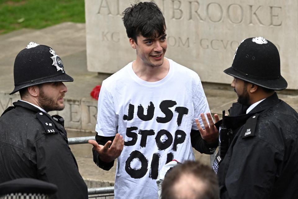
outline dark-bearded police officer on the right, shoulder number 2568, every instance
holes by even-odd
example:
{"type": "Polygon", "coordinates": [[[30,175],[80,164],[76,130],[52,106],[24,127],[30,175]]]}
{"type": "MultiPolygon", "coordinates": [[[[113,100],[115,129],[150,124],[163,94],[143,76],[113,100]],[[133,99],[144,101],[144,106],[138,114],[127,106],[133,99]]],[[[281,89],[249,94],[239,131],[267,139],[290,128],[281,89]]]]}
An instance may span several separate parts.
{"type": "Polygon", "coordinates": [[[220,198],[298,198],[298,114],[274,92],[287,87],[278,49],[263,37],[245,39],[224,72],[238,102],[224,117],[228,150],[213,165],[220,198]]]}

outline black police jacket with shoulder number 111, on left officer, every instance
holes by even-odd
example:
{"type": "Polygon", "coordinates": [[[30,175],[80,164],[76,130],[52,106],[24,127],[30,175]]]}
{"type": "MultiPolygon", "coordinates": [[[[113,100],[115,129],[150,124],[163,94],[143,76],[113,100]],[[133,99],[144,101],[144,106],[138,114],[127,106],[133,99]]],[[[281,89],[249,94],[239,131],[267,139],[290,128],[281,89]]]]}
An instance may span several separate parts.
{"type": "Polygon", "coordinates": [[[57,185],[51,198],[88,198],[64,127],[26,102],[13,104],[0,117],[0,183],[35,178],[57,185]]]}

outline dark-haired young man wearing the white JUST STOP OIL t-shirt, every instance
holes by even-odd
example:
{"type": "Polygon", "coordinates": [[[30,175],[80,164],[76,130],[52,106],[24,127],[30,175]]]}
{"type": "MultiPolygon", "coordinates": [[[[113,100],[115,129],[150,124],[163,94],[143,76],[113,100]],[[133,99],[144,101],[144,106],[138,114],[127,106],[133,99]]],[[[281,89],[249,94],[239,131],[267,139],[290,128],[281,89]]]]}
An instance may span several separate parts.
{"type": "Polygon", "coordinates": [[[123,14],[137,58],[103,81],[96,141],[89,143],[100,168],[110,169],[118,158],[115,198],[157,198],[161,167],[193,160],[192,146],[213,153],[218,134],[198,131],[195,119],[202,124],[207,99],[195,72],[164,57],[166,25],[157,5],[139,2],[123,14]]]}

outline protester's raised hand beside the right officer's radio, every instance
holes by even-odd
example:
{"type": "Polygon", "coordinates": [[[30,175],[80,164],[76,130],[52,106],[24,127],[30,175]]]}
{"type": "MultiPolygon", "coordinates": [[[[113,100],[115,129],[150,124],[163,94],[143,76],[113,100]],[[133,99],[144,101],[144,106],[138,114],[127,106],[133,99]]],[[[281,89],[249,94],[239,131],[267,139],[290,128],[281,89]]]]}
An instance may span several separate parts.
{"type": "MultiPolygon", "coordinates": [[[[196,119],[196,126],[198,127],[201,137],[207,142],[207,143],[213,143],[215,141],[218,141],[218,135],[219,131],[218,129],[214,126],[213,119],[211,117],[211,113],[207,113],[207,118],[209,121],[209,124],[207,123],[207,120],[205,118],[204,113],[201,113],[201,118],[205,127],[205,130],[201,127],[201,124],[198,119],[196,119]]],[[[218,114],[214,114],[215,118],[215,123],[219,121],[218,114]]]]}

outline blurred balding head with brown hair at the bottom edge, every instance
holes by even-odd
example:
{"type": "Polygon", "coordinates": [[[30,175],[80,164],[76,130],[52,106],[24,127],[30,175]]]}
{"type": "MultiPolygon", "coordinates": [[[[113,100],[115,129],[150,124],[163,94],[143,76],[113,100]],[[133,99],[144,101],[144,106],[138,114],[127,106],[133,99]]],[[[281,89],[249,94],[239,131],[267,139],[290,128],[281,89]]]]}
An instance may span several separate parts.
{"type": "Polygon", "coordinates": [[[161,199],[219,199],[217,176],[199,161],[178,164],[165,174],[161,199]]]}

